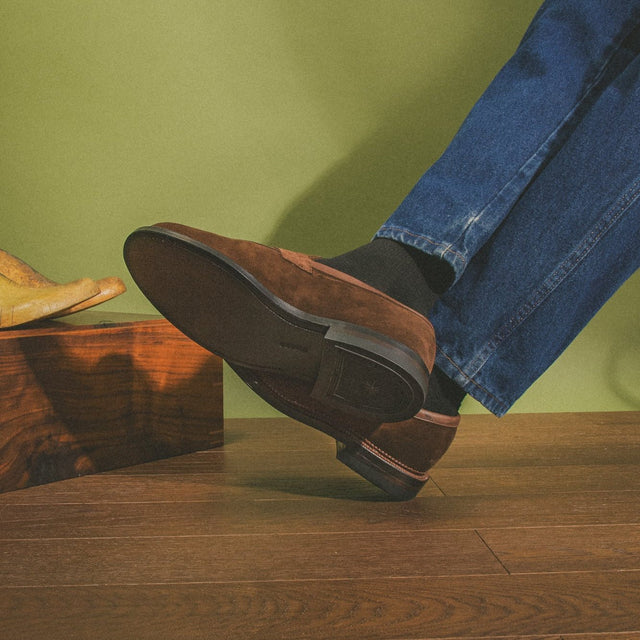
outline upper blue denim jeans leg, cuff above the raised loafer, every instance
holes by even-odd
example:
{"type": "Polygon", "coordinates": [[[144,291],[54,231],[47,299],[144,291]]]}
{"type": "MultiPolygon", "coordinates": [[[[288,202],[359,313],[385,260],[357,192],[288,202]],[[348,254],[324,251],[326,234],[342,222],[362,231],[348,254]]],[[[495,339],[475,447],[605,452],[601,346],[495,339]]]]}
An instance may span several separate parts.
{"type": "Polygon", "coordinates": [[[460,277],[626,64],[640,0],[547,0],[442,157],[378,232],[460,277]]]}

